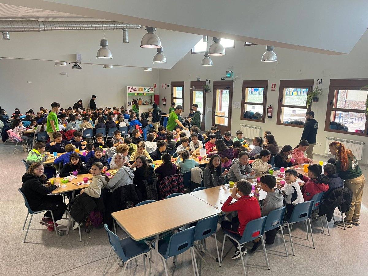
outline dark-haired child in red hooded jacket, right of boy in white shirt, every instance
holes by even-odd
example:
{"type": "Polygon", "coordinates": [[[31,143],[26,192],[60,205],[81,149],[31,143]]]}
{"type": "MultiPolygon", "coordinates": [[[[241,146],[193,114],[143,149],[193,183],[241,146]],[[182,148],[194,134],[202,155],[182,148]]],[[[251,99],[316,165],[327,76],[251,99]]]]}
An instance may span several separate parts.
{"type": "Polygon", "coordinates": [[[308,167],[308,177],[301,173],[298,177],[305,182],[299,184],[302,187],[304,201],[311,200],[315,194],[328,191],[328,176],[321,175],[322,166],[319,164],[312,164],[308,167]]]}

